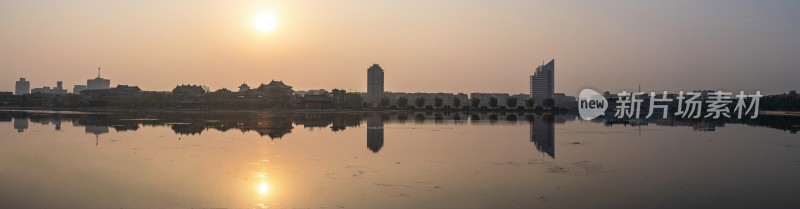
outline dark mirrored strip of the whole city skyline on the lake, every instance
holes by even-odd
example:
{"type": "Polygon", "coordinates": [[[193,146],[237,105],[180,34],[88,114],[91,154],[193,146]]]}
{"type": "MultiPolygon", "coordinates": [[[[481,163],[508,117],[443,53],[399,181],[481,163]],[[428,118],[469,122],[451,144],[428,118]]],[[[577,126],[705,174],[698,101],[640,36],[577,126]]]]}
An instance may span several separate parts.
{"type": "MultiPolygon", "coordinates": [[[[0,121],[11,122],[18,132],[29,128],[29,123],[42,125],[53,124],[56,130],[61,123],[72,123],[74,127],[82,127],[85,133],[95,135],[95,143],[99,136],[109,133],[113,128],[117,132],[137,131],[143,126],[168,127],[175,134],[202,134],[209,129],[221,132],[238,130],[242,133],[256,132],[261,137],[281,138],[292,132],[295,125],[312,130],[328,129],[334,132],[345,131],[348,127],[361,126],[366,121],[367,148],[378,153],[384,147],[384,126],[391,123],[432,124],[496,124],[510,122],[517,124],[528,122],[530,126],[529,140],[536,150],[555,158],[555,126],[567,121],[577,120],[574,114],[533,114],[533,113],[438,113],[438,112],[391,112],[391,113],[120,113],[120,114],[46,114],[29,112],[0,111],[0,121]]],[[[716,131],[724,128],[726,123],[738,123],[751,126],[771,127],[797,133],[800,130],[800,117],[760,116],[751,120],[682,120],[675,118],[651,119],[631,123],[629,121],[613,121],[598,118],[595,123],[606,126],[687,126],[695,131],[716,131]]]]}

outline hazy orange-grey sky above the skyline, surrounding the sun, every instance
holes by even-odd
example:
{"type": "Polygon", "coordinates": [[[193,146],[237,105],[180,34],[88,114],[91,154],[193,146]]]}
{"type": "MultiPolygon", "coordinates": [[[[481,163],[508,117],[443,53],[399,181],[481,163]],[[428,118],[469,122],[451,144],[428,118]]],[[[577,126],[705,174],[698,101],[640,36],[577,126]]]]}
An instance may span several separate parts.
{"type": "Polygon", "coordinates": [[[799,89],[800,1],[0,1],[0,91],[19,77],[68,89],[235,89],[272,79],[365,91],[799,89]],[[264,11],[272,32],[252,21],[264,11]]]}

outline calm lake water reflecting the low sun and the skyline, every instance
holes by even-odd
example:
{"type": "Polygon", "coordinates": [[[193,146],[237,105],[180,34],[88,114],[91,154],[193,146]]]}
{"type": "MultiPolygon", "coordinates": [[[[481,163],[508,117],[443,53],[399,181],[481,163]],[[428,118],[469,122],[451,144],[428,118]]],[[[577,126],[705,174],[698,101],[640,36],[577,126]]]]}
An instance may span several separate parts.
{"type": "Polygon", "coordinates": [[[800,119],[0,112],[0,208],[798,208],[800,119]]]}

